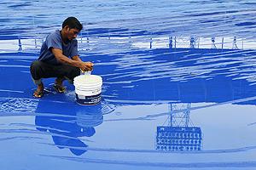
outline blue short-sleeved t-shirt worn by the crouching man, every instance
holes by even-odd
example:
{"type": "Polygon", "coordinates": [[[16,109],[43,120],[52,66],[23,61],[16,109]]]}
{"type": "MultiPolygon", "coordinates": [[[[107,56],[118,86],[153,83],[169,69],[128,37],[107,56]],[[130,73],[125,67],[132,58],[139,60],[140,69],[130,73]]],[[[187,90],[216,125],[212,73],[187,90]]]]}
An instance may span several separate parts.
{"type": "Polygon", "coordinates": [[[55,59],[55,55],[52,54],[50,48],[61,49],[62,54],[64,54],[68,58],[79,55],[78,41],[76,39],[73,39],[67,42],[67,44],[64,44],[61,39],[61,31],[59,30],[50,33],[49,36],[46,37],[42,45],[38,60],[44,61],[45,63],[49,63],[51,65],[61,65],[61,63],[57,59],[55,59]]]}

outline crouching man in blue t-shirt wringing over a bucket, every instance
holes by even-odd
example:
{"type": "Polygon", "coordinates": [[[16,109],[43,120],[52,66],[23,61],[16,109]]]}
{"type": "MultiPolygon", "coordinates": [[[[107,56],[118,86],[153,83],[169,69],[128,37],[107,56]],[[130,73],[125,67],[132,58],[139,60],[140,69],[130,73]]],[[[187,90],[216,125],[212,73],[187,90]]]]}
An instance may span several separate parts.
{"type": "Polygon", "coordinates": [[[91,71],[93,64],[83,62],[79,58],[78,41],[76,37],[83,29],[75,17],[68,17],[62,24],[61,31],[55,31],[46,37],[38,60],[32,62],[30,71],[33,82],[38,86],[33,96],[41,98],[44,95],[42,78],[56,77],[54,88],[64,93],[66,88],[62,82],[80,75],[81,71],[91,71]]]}

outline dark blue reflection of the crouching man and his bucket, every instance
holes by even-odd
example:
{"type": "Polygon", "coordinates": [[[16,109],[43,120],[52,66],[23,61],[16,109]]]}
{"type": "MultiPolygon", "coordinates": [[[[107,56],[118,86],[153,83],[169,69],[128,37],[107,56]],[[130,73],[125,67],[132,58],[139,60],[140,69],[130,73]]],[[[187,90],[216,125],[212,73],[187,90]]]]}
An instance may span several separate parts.
{"type": "Polygon", "coordinates": [[[88,145],[84,144],[79,137],[93,136],[96,133],[95,127],[103,122],[102,112],[94,108],[95,106],[92,108],[88,106],[85,110],[84,106],[74,103],[52,105],[52,102],[40,101],[37,109],[40,116],[36,116],[35,124],[39,131],[47,131],[52,135],[58,148],[68,148],[74,155],[80,156],[87,151],[88,145]],[[45,108],[43,105],[49,105],[49,107],[45,108]],[[58,108],[58,111],[53,112],[55,110],[50,106],[58,108]]]}

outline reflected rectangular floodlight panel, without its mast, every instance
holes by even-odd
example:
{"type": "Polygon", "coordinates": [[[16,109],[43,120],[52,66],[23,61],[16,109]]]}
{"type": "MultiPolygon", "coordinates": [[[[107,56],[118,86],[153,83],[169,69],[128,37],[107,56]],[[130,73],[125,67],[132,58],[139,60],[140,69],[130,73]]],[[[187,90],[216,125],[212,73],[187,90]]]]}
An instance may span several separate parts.
{"type": "Polygon", "coordinates": [[[157,127],[156,150],[201,150],[201,127],[157,127]]]}

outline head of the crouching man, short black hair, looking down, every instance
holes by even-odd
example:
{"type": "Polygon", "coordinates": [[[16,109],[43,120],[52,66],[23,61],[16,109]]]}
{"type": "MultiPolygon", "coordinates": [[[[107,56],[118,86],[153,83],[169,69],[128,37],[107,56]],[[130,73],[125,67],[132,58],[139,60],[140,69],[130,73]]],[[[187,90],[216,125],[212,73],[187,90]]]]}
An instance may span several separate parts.
{"type": "Polygon", "coordinates": [[[64,38],[68,40],[73,40],[79,34],[79,32],[83,29],[83,25],[79,22],[75,17],[68,17],[62,23],[62,31],[64,38]]]}

